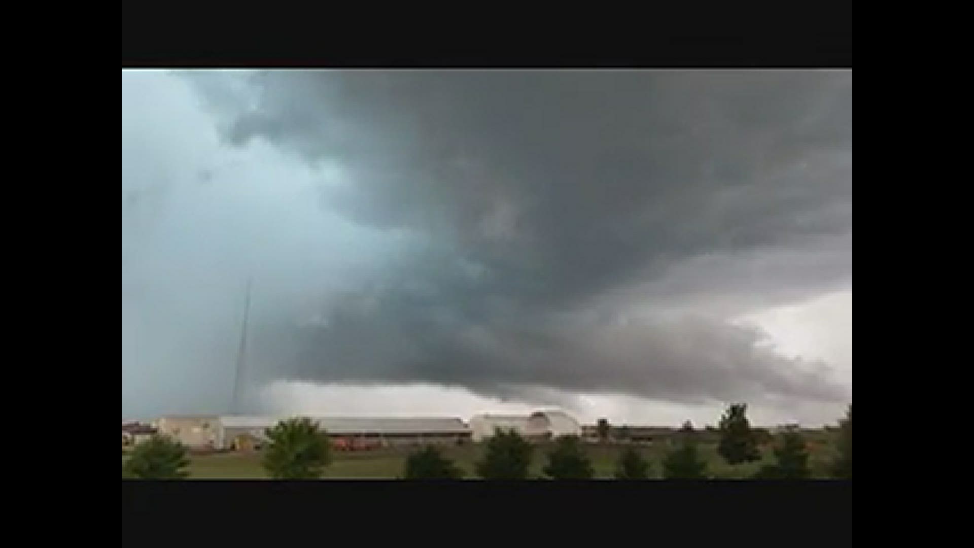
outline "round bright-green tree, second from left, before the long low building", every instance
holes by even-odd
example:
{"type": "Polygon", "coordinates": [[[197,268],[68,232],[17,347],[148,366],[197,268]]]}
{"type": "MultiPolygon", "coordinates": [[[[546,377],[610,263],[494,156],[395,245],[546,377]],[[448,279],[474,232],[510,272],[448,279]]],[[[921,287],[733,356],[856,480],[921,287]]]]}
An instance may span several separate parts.
{"type": "Polygon", "coordinates": [[[331,462],[326,433],[308,417],[281,420],[266,433],[264,469],[276,480],[320,478],[331,462]]]}

